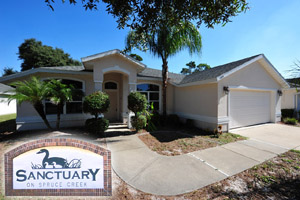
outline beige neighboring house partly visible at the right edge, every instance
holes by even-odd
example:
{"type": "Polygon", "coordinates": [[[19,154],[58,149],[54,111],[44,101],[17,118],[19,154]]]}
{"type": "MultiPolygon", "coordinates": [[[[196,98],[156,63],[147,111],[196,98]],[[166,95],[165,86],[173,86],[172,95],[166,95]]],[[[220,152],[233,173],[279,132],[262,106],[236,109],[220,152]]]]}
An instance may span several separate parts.
{"type": "Polygon", "coordinates": [[[300,112],[300,78],[286,79],[290,88],[283,90],[281,107],[282,109],[294,109],[300,112]]]}

